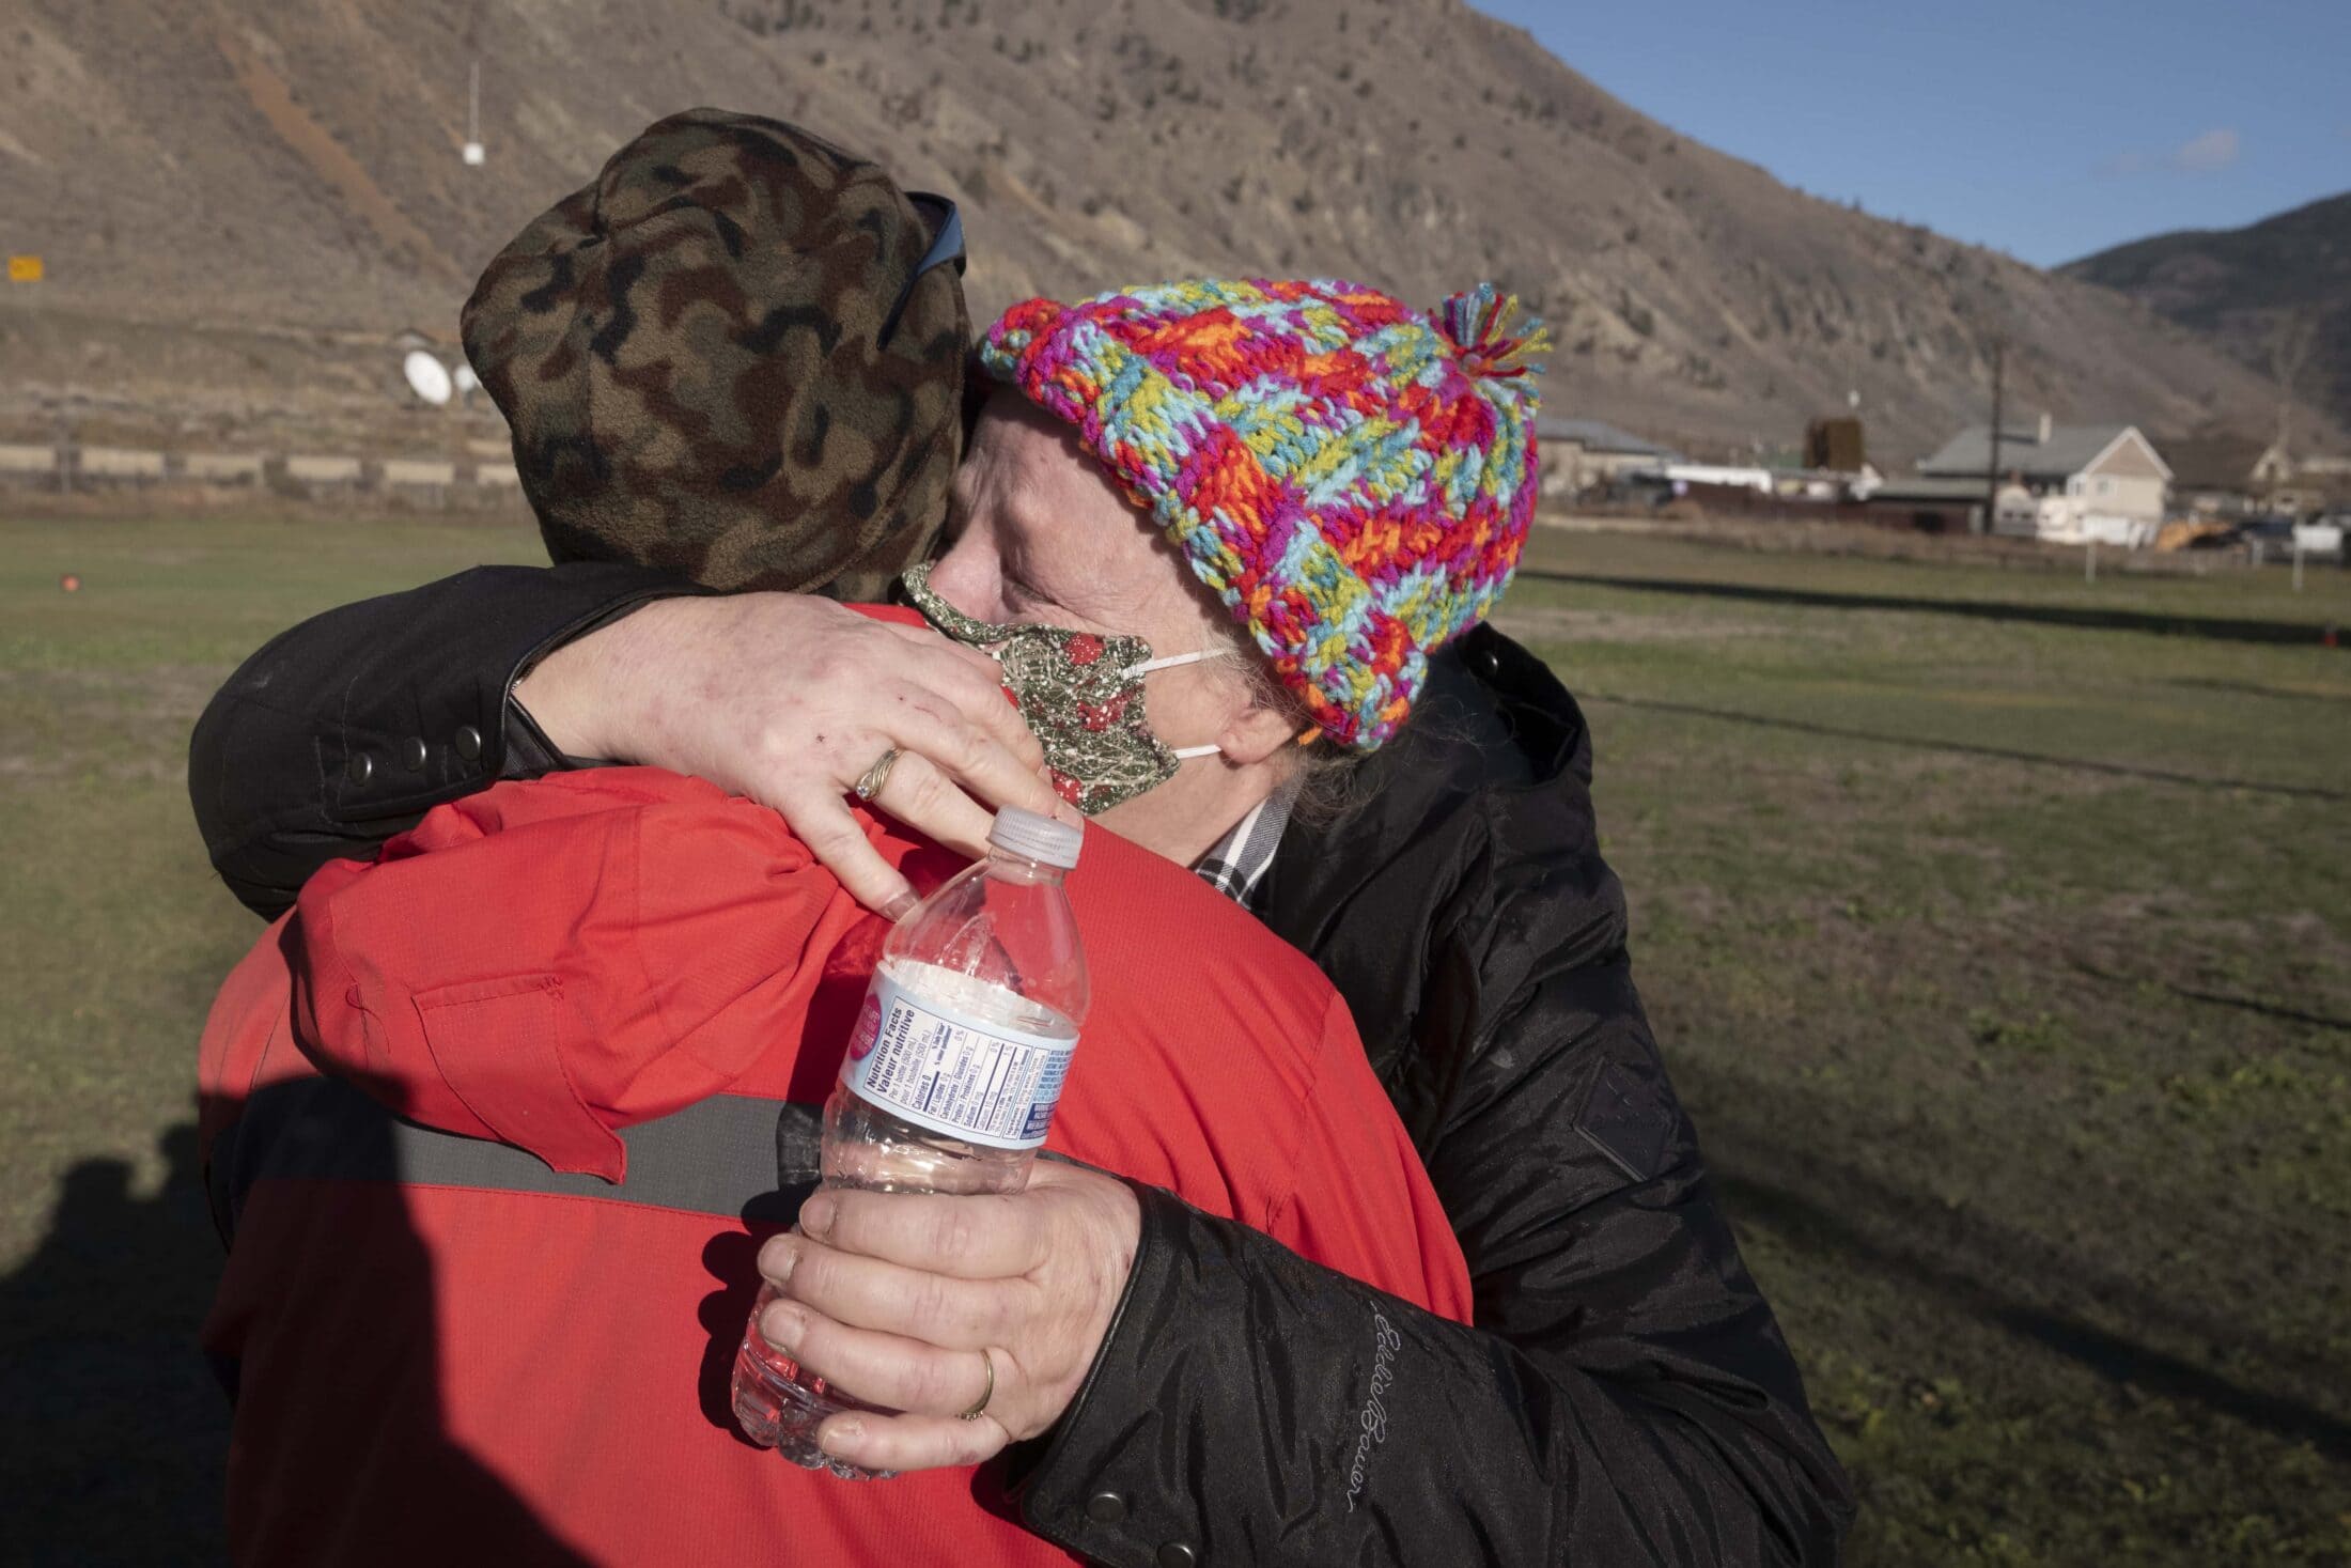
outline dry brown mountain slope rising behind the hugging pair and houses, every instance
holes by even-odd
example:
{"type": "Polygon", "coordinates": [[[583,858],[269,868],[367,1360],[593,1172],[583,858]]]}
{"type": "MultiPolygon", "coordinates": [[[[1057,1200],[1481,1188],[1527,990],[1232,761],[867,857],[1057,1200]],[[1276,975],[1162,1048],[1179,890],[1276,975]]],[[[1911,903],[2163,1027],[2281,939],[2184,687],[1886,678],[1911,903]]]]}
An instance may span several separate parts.
{"type": "Polygon", "coordinates": [[[364,409],[386,329],[449,334],[531,212],[722,103],[957,195],[983,313],[1176,273],[1422,303],[1495,277],[1559,334],[1554,411],[1695,444],[1784,444],[1850,386],[1878,451],[1916,451],[1980,416],[1989,331],[2012,407],[2158,430],[2264,407],[2189,331],[1789,190],[1460,0],[14,0],[0,45],[0,244],[52,273],[0,296],[19,402],[167,390],[179,355],[223,364],[188,407],[289,378],[364,409]],[[489,165],[465,169],[475,56],[489,165]],[[249,364],[190,348],[259,327],[249,364]]]}

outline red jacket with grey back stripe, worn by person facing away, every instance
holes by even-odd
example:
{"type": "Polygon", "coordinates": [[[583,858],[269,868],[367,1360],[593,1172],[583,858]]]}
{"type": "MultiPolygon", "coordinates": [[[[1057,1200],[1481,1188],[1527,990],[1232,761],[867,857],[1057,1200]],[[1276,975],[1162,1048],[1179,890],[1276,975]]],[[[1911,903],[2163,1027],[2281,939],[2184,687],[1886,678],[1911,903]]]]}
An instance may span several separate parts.
{"type": "MultiPolygon", "coordinates": [[[[1321,973],[1100,827],[1070,896],[1096,1001],[1051,1147],[1467,1319],[1321,973]]],[[[202,1044],[237,1561],[1070,1561],[990,1476],[811,1476],[726,1410],[778,1168],[811,1173],[776,1103],[830,1091],[884,933],[771,811],[651,769],[317,872],[202,1044]]]]}

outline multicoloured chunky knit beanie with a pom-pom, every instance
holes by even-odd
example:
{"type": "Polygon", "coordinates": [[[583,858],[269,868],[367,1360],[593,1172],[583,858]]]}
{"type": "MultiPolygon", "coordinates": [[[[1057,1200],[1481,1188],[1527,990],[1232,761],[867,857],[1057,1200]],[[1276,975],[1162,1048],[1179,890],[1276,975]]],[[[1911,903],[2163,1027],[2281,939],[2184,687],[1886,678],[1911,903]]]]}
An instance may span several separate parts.
{"type": "Polygon", "coordinates": [[[1535,515],[1533,355],[1493,284],[1436,317],[1349,282],[1032,299],[980,348],[1067,418],[1246,621],[1326,736],[1396,733],[1535,515]]]}

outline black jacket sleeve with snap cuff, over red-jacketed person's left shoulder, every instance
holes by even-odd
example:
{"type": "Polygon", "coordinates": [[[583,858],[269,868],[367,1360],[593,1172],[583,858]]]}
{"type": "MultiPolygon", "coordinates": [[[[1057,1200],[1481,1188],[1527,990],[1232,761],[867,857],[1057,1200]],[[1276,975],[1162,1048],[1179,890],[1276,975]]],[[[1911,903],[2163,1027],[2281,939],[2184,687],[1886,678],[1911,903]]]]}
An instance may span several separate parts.
{"type": "Polygon", "coordinates": [[[327,860],[510,776],[508,693],[534,661],[679,592],[701,590],[602,562],[477,567],[277,635],[188,743],[214,870],[256,914],[282,914],[327,860]]]}

